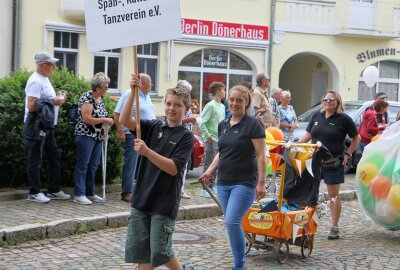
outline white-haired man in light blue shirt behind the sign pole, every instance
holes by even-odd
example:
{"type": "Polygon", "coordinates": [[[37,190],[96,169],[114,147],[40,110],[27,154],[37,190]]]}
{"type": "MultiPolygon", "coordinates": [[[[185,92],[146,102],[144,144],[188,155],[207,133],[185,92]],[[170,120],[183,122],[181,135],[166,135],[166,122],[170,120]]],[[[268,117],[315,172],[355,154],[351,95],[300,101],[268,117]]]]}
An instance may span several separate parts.
{"type": "MultiPolygon", "coordinates": [[[[155,108],[150,98],[151,77],[145,73],[140,74],[142,87],[139,91],[140,103],[140,119],[153,120],[156,119],[155,108]]],[[[130,202],[134,193],[134,177],[138,163],[138,154],[135,152],[134,139],[135,136],[119,122],[119,116],[124,107],[126,99],[129,97],[131,90],[126,91],[118,101],[114,109],[114,122],[117,127],[117,139],[124,148],[124,164],[122,166],[122,191],[121,200],[130,202]]],[[[136,118],[136,104],[133,105],[132,116],[136,118]]]]}

